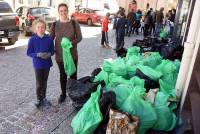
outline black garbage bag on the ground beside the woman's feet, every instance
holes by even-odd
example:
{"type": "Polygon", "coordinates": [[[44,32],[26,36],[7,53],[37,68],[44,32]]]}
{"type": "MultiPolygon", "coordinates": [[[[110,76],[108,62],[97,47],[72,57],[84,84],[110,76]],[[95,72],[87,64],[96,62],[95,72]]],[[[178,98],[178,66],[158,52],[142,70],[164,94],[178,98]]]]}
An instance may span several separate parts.
{"type": "MultiPolygon", "coordinates": [[[[88,78],[88,77],[86,77],[88,78]]],[[[82,79],[83,80],[83,79],[82,79]]],[[[74,79],[67,81],[67,91],[69,97],[74,102],[85,102],[90,97],[90,94],[96,91],[98,83],[81,82],[74,79]]]]}

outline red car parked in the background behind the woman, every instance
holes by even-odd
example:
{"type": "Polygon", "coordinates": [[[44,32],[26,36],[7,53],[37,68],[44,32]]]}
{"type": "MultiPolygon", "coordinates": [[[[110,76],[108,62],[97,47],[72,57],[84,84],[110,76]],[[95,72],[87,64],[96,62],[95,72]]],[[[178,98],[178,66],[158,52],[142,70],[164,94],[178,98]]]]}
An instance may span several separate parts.
{"type": "Polygon", "coordinates": [[[101,24],[101,19],[104,13],[101,10],[93,10],[89,8],[82,8],[72,14],[78,22],[87,23],[89,26],[94,24],[101,24]]]}

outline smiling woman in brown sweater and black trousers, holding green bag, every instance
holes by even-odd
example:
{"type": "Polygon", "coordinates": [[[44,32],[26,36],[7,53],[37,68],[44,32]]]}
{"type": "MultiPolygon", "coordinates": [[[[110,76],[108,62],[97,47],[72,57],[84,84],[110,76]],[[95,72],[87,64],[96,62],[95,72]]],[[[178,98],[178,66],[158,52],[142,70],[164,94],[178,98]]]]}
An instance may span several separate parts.
{"type": "MultiPolygon", "coordinates": [[[[60,84],[62,90],[58,102],[62,103],[66,99],[67,74],[65,73],[62,59],[61,40],[63,37],[67,37],[72,42],[73,47],[70,49],[70,51],[77,70],[77,43],[82,40],[82,34],[79,24],[75,20],[69,19],[68,6],[65,3],[61,3],[58,5],[58,14],[59,20],[52,25],[50,34],[55,39],[55,57],[60,71],[60,84]]],[[[77,79],[77,71],[74,75],[70,76],[70,78],[77,79]]]]}

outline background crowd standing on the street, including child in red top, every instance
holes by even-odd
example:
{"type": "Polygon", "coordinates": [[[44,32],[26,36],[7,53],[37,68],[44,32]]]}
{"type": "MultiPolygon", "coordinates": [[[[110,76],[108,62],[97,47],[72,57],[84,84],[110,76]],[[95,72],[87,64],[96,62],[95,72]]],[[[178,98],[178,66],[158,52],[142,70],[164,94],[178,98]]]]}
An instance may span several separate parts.
{"type": "MultiPolygon", "coordinates": [[[[130,11],[127,16],[125,15],[124,8],[120,7],[116,13],[113,21],[113,29],[116,30],[116,48],[119,50],[124,46],[124,37],[130,37],[131,34],[136,33],[139,35],[139,30],[146,36],[159,36],[159,33],[165,26],[168,26],[168,32],[173,34],[174,20],[176,9],[169,10],[164,16],[164,8],[159,11],[154,11],[153,8],[142,12],[140,9],[130,11]]],[[[110,14],[107,13],[102,21],[102,39],[101,47],[110,48],[108,42],[108,21],[110,14]]]]}

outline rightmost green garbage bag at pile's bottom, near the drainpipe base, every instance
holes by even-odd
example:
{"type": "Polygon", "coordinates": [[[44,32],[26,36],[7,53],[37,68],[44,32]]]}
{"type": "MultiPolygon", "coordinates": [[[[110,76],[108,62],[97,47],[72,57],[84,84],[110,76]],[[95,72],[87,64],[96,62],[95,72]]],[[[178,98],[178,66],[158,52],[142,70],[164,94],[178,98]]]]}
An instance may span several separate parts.
{"type": "Polygon", "coordinates": [[[171,131],[177,124],[176,115],[168,107],[169,95],[158,92],[155,98],[154,108],[157,114],[157,121],[153,126],[154,130],[171,131]]]}

